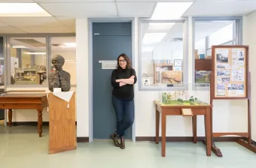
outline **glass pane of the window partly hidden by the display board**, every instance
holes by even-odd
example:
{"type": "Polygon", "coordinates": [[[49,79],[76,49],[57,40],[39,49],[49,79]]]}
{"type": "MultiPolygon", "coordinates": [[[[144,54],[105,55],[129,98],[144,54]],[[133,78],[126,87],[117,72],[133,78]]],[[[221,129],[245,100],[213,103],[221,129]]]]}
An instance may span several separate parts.
{"type": "MultiPolygon", "coordinates": [[[[199,58],[211,58],[213,45],[233,45],[236,37],[234,36],[236,25],[234,20],[226,21],[196,21],[195,22],[195,51],[194,56],[199,58]]],[[[206,64],[207,64],[206,60],[206,64]]],[[[209,68],[196,64],[194,83],[209,84],[209,68]]]]}

